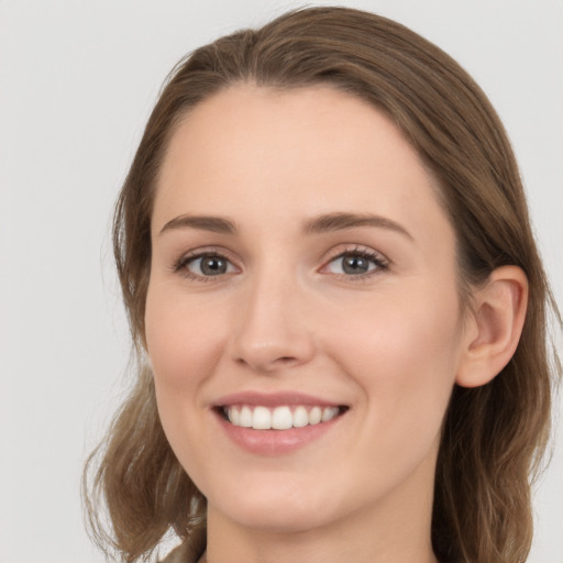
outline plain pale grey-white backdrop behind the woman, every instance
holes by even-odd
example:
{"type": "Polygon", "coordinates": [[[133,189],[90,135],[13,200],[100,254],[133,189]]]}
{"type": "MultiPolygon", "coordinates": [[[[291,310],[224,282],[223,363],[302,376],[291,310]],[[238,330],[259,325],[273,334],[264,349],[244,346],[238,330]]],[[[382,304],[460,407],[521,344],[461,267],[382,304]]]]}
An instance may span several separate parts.
{"type": "MultiPolygon", "coordinates": [[[[483,86],[514,142],[561,306],[563,1],[341,4],[412,27],[483,86]]],[[[125,385],[112,203],[177,59],[297,5],[0,0],[0,563],[103,561],[79,481],[125,385]]],[[[536,495],[532,563],[563,563],[561,426],[536,495]]]]}

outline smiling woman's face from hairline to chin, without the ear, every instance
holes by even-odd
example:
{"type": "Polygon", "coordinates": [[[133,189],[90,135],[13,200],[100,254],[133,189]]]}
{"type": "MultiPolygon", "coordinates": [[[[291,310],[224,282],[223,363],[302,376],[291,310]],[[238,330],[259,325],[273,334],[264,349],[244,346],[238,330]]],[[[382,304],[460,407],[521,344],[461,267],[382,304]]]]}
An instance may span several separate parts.
{"type": "Polygon", "coordinates": [[[146,342],[210,517],[298,531],[430,511],[463,357],[435,189],[386,117],[330,88],[231,87],[178,126],[146,342]]]}

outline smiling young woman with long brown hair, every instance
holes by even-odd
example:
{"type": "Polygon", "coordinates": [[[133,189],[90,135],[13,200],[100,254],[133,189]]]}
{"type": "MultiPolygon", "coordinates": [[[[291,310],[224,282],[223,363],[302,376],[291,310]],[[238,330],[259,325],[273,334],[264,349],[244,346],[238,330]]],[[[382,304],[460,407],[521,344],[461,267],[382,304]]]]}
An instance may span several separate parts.
{"type": "Polygon", "coordinates": [[[120,195],[139,357],[100,450],[137,561],[523,562],[556,311],[510,145],[444,53],[313,8],[174,70],[120,195]]]}

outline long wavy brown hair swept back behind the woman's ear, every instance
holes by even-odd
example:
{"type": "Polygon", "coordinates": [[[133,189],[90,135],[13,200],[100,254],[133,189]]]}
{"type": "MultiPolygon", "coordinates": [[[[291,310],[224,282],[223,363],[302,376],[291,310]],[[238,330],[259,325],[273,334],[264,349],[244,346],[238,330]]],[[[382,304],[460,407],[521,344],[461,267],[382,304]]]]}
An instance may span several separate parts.
{"type": "MultiPolygon", "coordinates": [[[[282,89],[328,85],[394,120],[440,187],[456,232],[462,301],[498,266],[526,273],[529,308],[514,357],[488,385],[454,388],[432,518],[433,548],[442,561],[523,562],[532,536],[530,484],[547,445],[551,389],[561,372],[549,350],[549,311],[561,319],[498,117],[452,58],[402,25],[353,9],[297,10],[260,30],[221,37],[177,65],[114,216],[115,260],[137,355],[144,346],[152,205],[167,142],[195,106],[245,81],[282,89]]],[[[166,441],[152,375],[142,358],[139,365],[131,395],[85,471],[91,474],[85,490],[93,534],[128,563],[147,558],[169,530],[194,553],[205,542],[205,499],[166,441]],[[100,500],[109,532],[100,523],[100,500]]]]}

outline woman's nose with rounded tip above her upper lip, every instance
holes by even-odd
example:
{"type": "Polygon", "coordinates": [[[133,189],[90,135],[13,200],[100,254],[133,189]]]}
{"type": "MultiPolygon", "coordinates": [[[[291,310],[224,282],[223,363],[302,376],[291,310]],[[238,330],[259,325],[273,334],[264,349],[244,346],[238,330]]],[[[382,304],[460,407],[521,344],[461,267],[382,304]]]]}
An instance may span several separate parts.
{"type": "Polygon", "coordinates": [[[255,279],[244,292],[231,333],[232,358],[261,373],[309,362],[314,343],[298,284],[274,273],[255,279]]]}

